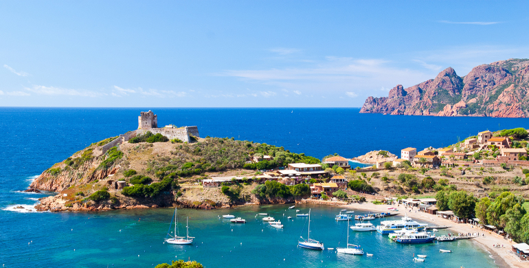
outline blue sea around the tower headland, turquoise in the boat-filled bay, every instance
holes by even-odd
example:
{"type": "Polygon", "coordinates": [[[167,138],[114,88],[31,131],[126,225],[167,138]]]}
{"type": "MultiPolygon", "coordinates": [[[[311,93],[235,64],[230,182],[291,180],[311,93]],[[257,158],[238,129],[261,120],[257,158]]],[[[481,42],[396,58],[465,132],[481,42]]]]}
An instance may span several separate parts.
{"type": "MultiPolygon", "coordinates": [[[[376,232],[351,232],[349,243],[373,256],[297,247],[307,236],[307,219],[288,205],[245,205],[234,210],[179,209],[179,233],[189,217],[193,245],[164,243],[174,209],[109,212],[35,212],[38,198],[53,193],[21,192],[43,170],[93,142],[137,129],[137,116],[149,108],[0,107],[0,265],[2,267],[154,267],[170,260],[196,260],[204,267],[496,267],[473,241],[400,245],[376,232]],[[22,206],[24,210],[16,209],[22,206]],[[30,211],[31,210],[31,211],[30,211]],[[284,223],[275,229],[258,213],[284,223]],[[219,218],[234,214],[247,223],[219,218]],[[293,219],[287,219],[293,216],[293,219]],[[451,249],[440,254],[438,249],[451,249]],[[417,254],[425,263],[414,263],[417,254]]],[[[294,153],[322,158],[370,150],[400,155],[402,148],[436,148],[479,131],[528,127],[523,118],[431,117],[363,114],[335,108],[156,108],[159,126],[198,126],[201,137],[234,137],[284,146],[294,153]]],[[[311,238],[326,247],[346,246],[347,225],[336,222],[339,208],[311,209],[311,238]]],[[[357,211],[357,214],[365,212],[357,211]]],[[[410,214],[412,216],[413,214],[410,214]]],[[[421,219],[417,219],[420,221],[421,219]]],[[[376,224],[379,220],[375,220],[376,224]]],[[[442,231],[449,232],[449,231],[442,231]]]]}

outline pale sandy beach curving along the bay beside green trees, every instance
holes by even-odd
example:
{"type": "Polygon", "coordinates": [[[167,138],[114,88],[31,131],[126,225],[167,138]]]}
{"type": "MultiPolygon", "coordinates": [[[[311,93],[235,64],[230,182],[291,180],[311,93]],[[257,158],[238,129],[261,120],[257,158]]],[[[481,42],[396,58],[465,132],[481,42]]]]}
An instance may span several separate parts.
{"type": "MultiPolygon", "coordinates": [[[[352,203],[350,205],[344,205],[346,208],[350,208],[353,210],[368,210],[371,212],[388,212],[387,208],[395,207],[394,205],[375,205],[373,203],[352,203]]],[[[409,212],[411,210],[410,208],[405,209],[403,205],[400,205],[398,208],[398,213],[401,215],[404,215],[407,213],[407,216],[412,217],[413,219],[417,219],[420,221],[427,221],[429,223],[434,223],[434,225],[447,225],[451,226],[449,230],[451,230],[453,233],[473,233],[473,232],[479,232],[480,236],[477,238],[471,238],[471,241],[474,243],[477,243],[485,249],[487,252],[491,254],[491,256],[494,258],[495,263],[498,265],[498,267],[529,267],[529,261],[522,261],[520,260],[515,254],[511,253],[511,245],[515,244],[510,243],[508,240],[504,239],[503,236],[499,236],[498,234],[495,234],[493,232],[488,232],[487,230],[482,230],[477,226],[473,226],[466,223],[454,223],[453,221],[449,221],[447,219],[442,219],[441,217],[438,217],[436,215],[427,214],[425,212],[419,212],[418,210],[412,210],[412,212],[409,212]],[[484,234],[484,236],[482,235],[484,234]],[[496,248],[494,245],[500,245],[502,247],[496,248]]],[[[398,218],[396,216],[395,218],[398,218]]]]}

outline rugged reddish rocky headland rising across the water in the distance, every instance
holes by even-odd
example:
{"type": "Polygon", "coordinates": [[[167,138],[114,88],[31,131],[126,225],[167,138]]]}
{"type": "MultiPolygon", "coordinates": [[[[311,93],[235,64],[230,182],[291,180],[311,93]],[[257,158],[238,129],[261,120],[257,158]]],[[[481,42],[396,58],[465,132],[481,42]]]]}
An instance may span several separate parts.
{"type": "Polygon", "coordinates": [[[529,116],[529,59],[474,67],[464,78],[451,67],[413,87],[394,87],[389,96],[369,97],[360,113],[391,115],[529,116]]]}

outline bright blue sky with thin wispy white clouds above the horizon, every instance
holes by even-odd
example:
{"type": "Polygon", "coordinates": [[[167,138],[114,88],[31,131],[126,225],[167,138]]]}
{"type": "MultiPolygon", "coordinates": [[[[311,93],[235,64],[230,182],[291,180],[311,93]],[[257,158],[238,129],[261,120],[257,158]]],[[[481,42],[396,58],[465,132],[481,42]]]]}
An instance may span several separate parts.
{"type": "Polygon", "coordinates": [[[524,1],[0,1],[0,106],[361,107],[529,58],[524,1]]]}

